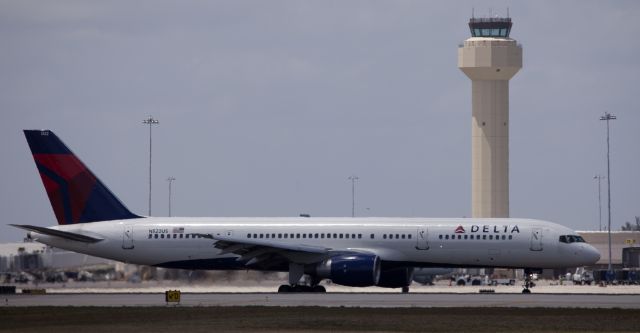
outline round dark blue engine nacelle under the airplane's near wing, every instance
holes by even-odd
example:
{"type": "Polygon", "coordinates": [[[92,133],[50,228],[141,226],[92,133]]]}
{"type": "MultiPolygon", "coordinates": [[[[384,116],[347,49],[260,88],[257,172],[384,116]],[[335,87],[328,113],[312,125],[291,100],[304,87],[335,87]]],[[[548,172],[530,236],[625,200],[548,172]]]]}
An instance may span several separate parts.
{"type": "Polygon", "coordinates": [[[314,275],[348,287],[375,286],[380,280],[380,258],[371,254],[335,256],[319,263],[314,275]]]}

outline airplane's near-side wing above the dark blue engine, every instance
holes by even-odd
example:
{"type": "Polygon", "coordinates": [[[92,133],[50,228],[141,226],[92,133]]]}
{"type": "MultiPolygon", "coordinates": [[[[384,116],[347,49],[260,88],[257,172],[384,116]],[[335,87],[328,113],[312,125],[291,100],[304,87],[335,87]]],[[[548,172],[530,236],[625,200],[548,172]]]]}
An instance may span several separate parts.
{"type": "Polygon", "coordinates": [[[300,244],[287,244],[265,239],[246,239],[223,234],[199,234],[201,237],[216,241],[214,246],[221,249],[221,254],[239,255],[238,261],[246,266],[268,268],[286,262],[310,264],[330,258],[337,252],[328,247],[300,244]]]}

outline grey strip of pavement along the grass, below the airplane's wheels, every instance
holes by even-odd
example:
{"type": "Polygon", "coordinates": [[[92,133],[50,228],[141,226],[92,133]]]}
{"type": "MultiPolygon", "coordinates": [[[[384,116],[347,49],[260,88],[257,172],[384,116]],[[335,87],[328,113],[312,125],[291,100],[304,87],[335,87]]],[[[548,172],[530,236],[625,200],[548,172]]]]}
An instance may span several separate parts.
{"type": "MultiPolygon", "coordinates": [[[[163,293],[0,295],[2,306],[167,306],[163,293]]],[[[170,306],[175,306],[172,304],[170,306]]],[[[479,293],[182,293],[177,306],[545,307],[640,309],[640,295],[479,293]]]]}

